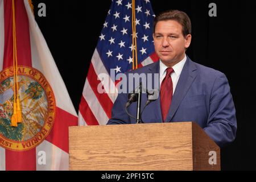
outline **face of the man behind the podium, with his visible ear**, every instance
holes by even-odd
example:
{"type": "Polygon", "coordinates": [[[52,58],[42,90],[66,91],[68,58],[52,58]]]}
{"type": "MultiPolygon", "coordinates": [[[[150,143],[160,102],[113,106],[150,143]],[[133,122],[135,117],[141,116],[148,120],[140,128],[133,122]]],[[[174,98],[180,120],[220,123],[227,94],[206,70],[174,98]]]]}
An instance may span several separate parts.
{"type": "Polygon", "coordinates": [[[164,20],[156,23],[154,37],[155,52],[164,64],[172,67],[185,56],[185,48],[189,47],[191,35],[185,38],[182,26],[175,20],[164,20]]]}

